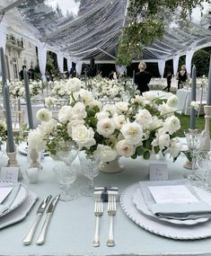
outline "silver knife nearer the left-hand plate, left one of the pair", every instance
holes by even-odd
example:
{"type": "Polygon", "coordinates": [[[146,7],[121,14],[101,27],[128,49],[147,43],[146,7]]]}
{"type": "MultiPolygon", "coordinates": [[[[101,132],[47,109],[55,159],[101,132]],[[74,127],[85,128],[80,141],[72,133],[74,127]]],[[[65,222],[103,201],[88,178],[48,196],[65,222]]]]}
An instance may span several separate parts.
{"type": "Polygon", "coordinates": [[[37,210],[37,214],[36,214],[36,217],[35,217],[35,220],[34,220],[33,224],[31,225],[31,229],[22,241],[23,244],[28,245],[28,244],[31,243],[31,240],[33,238],[35,230],[36,230],[37,226],[40,223],[41,216],[42,216],[43,212],[45,211],[46,207],[48,206],[48,202],[51,198],[52,198],[52,196],[49,195],[47,198],[45,198],[40,203],[40,207],[37,210]]]}

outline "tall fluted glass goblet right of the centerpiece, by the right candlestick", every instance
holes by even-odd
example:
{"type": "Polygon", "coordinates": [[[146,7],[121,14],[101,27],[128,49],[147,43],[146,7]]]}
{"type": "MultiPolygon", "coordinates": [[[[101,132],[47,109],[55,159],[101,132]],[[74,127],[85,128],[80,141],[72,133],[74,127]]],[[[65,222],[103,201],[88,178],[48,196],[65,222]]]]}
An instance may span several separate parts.
{"type": "Polygon", "coordinates": [[[187,174],[187,179],[190,181],[198,181],[200,179],[195,173],[195,170],[197,169],[197,155],[201,149],[201,146],[203,146],[204,140],[207,137],[207,131],[202,129],[189,128],[184,130],[184,135],[187,139],[192,162],[192,171],[187,174]]]}

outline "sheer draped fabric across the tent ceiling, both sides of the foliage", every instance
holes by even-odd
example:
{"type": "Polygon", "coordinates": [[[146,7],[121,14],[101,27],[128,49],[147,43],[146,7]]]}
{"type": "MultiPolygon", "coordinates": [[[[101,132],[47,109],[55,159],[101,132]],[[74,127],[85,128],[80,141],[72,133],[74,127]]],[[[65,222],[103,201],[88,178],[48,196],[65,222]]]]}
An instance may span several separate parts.
{"type": "MultiPolygon", "coordinates": [[[[17,0],[1,0],[0,14],[7,4],[15,2],[17,0]]],[[[12,20],[16,26],[25,22],[24,28],[22,26],[23,34],[33,34],[35,41],[46,43],[47,49],[60,51],[67,58],[83,61],[94,58],[95,63],[114,62],[119,35],[122,27],[128,23],[128,0],[69,0],[68,3],[70,2],[77,6],[75,13],[71,8],[68,13],[62,13],[57,8],[64,3],[62,0],[25,0],[10,12],[4,13],[2,22],[7,26],[12,25],[12,20]]],[[[207,7],[207,13],[198,23],[191,20],[184,22],[179,16],[172,16],[168,10],[164,10],[166,21],[163,39],[156,39],[152,45],[145,47],[145,61],[174,59],[175,74],[178,66],[178,58],[175,57],[188,53],[189,68],[189,52],[211,46],[210,10],[207,7]]]]}

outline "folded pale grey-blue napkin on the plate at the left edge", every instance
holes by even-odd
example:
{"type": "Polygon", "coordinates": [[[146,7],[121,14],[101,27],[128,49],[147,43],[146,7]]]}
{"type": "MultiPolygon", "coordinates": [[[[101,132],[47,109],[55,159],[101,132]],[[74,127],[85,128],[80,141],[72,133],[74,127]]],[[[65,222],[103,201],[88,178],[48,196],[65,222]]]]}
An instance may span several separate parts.
{"type": "MultiPolygon", "coordinates": [[[[0,216],[4,214],[4,212],[11,207],[13,204],[14,199],[16,198],[20,188],[21,183],[15,183],[13,186],[13,190],[10,192],[10,194],[4,199],[4,201],[0,204],[0,216]]],[[[1,184],[1,187],[12,187],[11,184],[1,184]]]]}

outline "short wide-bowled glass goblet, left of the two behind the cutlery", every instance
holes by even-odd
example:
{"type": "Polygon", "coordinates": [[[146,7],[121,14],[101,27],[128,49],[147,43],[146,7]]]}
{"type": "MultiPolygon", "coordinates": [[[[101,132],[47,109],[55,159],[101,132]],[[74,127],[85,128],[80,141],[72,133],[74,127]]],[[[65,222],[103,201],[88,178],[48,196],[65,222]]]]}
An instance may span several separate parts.
{"type": "Polygon", "coordinates": [[[60,189],[64,190],[60,195],[60,200],[71,201],[77,199],[77,194],[71,191],[71,184],[76,180],[77,170],[66,163],[58,163],[54,166],[54,172],[59,182],[60,189]]]}

